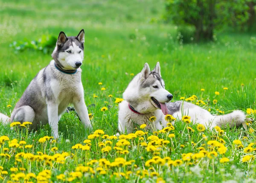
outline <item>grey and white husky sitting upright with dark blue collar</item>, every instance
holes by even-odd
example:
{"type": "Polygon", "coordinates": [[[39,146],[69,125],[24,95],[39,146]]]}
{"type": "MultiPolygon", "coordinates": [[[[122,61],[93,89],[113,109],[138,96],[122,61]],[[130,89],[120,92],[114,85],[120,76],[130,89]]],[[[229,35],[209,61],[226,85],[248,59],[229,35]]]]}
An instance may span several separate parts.
{"type": "Polygon", "coordinates": [[[84,29],[76,37],[67,37],[61,31],[52,58],[49,65],[31,81],[10,120],[32,122],[31,129],[37,129],[40,123],[49,123],[52,134],[57,138],[58,120],[69,103],[73,103],[84,127],[91,127],[80,69],[84,59],[84,29]]]}

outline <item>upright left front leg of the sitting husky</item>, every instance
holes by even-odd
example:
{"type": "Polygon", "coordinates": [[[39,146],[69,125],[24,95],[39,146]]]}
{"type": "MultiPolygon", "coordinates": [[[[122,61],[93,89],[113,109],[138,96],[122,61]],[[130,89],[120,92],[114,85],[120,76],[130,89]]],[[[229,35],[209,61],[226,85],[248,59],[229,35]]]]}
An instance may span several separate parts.
{"type": "Polygon", "coordinates": [[[58,105],[55,103],[47,104],[48,122],[52,128],[52,136],[58,138],[58,105]]]}

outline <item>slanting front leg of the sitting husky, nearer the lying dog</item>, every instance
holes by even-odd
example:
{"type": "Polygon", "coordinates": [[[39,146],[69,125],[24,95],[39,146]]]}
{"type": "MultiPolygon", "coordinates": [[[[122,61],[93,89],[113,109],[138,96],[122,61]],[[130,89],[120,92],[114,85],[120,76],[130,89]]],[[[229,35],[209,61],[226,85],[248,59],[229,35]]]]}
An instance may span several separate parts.
{"type": "Polygon", "coordinates": [[[90,120],[89,120],[88,110],[84,103],[84,98],[75,99],[73,101],[73,104],[74,104],[76,113],[80,117],[80,120],[83,123],[84,127],[92,128],[90,120]]]}

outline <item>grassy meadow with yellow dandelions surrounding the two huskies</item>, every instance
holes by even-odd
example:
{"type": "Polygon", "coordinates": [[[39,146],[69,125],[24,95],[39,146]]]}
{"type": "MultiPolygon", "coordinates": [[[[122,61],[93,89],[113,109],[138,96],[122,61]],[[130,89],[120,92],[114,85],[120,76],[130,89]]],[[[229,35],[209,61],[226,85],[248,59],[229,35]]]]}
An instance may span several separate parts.
{"type": "Polygon", "coordinates": [[[215,42],[185,44],[179,28],[163,22],[164,11],[163,0],[0,0],[0,112],[10,116],[51,60],[51,52],[17,51],[10,44],[84,29],[82,83],[93,123],[89,131],[75,112],[65,113],[58,141],[49,126],[31,132],[28,125],[0,124],[1,182],[256,181],[255,120],[248,130],[209,131],[176,121],[159,132],[141,128],[113,137],[116,98],[145,62],[152,69],[160,62],[172,102],[190,98],[212,114],[241,109],[256,118],[256,34],[219,31],[215,42]]]}

